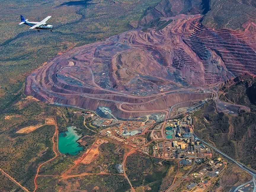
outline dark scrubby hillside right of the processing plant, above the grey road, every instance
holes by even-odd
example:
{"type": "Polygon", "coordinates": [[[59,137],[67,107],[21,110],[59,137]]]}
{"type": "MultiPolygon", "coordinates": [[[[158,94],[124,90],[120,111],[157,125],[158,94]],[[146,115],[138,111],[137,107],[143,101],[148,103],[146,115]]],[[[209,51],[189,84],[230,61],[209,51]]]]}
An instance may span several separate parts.
{"type": "Polygon", "coordinates": [[[251,111],[240,111],[238,116],[217,113],[211,103],[195,115],[195,132],[214,143],[217,148],[242,163],[256,168],[256,77],[250,74],[225,81],[220,86],[220,99],[248,106],[251,111]]]}

